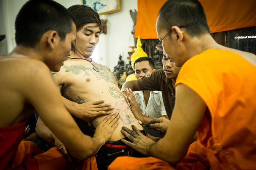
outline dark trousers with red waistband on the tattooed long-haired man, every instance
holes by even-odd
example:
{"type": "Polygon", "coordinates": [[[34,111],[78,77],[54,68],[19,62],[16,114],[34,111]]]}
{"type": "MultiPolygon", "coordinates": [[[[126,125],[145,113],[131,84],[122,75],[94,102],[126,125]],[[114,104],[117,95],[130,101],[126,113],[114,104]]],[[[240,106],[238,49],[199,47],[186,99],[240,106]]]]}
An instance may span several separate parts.
{"type": "MultiPolygon", "coordinates": [[[[147,136],[147,132],[145,130],[140,130],[140,132],[147,136]]],[[[128,138],[125,139],[129,140],[128,138]]],[[[137,158],[146,157],[133,148],[124,145],[124,143],[121,142],[121,139],[115,142],[107,142],[96,154],[98,169],[107,170],[108,166],[119,156],[133,156],[137,158]]]]}

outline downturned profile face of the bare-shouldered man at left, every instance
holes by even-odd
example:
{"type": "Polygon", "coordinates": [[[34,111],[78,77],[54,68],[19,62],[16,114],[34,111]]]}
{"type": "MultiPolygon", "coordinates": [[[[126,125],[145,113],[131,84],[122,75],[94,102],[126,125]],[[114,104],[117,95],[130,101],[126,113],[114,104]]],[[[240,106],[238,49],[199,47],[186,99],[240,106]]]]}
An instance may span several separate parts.
{"type": "Polygon", "coordinates": [[[48,57],[46,64],[49,66],[51,71],[58,72],[63,65],[63,62],[67,60],[67,57],[71,54],[71,43],[76,40],[76,25],[73,23],[73,31],[66,35],[65,40],[59,40],[56,43],[52,56],[48,57]]]}

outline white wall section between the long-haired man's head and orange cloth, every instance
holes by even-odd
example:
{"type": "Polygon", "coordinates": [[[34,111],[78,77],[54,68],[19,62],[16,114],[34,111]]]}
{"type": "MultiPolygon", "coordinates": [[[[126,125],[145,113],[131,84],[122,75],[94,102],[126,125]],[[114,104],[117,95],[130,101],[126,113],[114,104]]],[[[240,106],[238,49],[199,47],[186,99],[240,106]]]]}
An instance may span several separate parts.
{"type": "Polygon", "coordinates": [[[99,42],[99,62],[113,71],[117,65],[119,54],[124,54],[122,60],[128,64],[128,46],[134,45],[133,20],[131,19],[130,9],[138,10],[137,0],[120,0],[121,10],[113,14],[101,15],[101,19],[108,19],[108,33],[102,34],[99,42]],[[101,60],[102,59],[102,60],[101,60]]]}

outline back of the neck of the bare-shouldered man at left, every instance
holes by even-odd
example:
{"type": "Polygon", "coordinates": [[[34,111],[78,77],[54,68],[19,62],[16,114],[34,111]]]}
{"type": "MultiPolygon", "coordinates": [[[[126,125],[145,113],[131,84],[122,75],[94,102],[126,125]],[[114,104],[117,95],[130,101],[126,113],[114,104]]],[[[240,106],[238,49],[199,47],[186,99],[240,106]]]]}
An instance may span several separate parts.
{"type": "Polygon", "coordinates": [[[30,47],[25,47],[23,45],[17,45],[10,55],[12,54],[18,54],[18,55],[23,55],[32,59],[38,59],[42,62],[44,62],[44,55],[41,55],[42,52],[40,52],[37,48],[30,48],[30,47]]]}

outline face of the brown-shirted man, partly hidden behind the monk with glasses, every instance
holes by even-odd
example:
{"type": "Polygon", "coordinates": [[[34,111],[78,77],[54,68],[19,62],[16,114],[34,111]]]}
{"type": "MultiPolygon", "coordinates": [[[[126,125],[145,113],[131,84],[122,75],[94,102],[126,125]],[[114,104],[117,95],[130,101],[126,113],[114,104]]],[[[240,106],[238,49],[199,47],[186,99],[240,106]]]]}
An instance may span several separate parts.
{"type": "Polygon", "coordinates": [[[176,67],[165,51],[163,51],[163,70],[168,79],[176,79],[180,72],[180,67],[176,67]]]}

